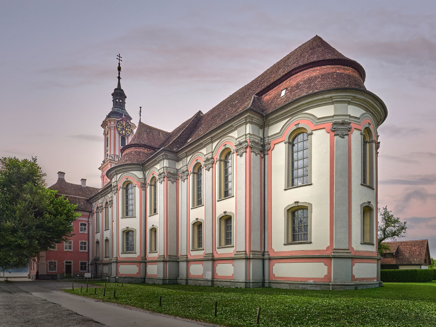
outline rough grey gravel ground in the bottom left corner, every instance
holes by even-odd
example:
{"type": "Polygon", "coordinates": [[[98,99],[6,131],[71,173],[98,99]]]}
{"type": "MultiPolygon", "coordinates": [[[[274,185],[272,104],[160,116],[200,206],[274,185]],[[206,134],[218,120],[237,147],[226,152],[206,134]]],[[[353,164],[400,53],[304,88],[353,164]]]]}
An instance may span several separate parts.
{"type": "MultiPolygon", "coordinates": [[[[67,288],[65,286],[59,283],[57,285],[54,284],[53,287],[67,288]]],[[[34,327],[43,325],[57,327],[105,326],[74,311],[65,309],[58,304],[33,296],[14,286],[13,283],[0,283],[0,303],[0,326],[2,327],[34,327]]]]}

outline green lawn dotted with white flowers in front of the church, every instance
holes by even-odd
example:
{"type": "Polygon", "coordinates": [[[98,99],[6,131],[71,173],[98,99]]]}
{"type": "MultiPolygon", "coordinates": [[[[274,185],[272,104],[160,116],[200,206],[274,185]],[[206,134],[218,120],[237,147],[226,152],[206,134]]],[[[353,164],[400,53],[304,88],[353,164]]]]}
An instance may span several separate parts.
{"type": "Polygon", "coordinates": [[[94,295],[93,285],[88,293],[85,286],[80,293],[80,284],[75,285],[74,291],[65,292],[223,326],[254,326],[257,307],[262,307],[259,326],[268,327],[436,326],[436,282],[385,283],[385,287],[352,291],[112,283],[106,297],[102,288],[94,295]]]}

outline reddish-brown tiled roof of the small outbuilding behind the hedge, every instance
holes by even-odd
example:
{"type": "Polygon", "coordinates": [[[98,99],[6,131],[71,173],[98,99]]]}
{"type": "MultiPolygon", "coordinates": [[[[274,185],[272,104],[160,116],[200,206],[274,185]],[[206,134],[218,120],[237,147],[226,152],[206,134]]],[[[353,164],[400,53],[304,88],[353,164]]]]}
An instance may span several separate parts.
{"type": "MultiPolygon", "coordinates": [[[[429,262],[424,262],[426,252],[429,251],[429,241],[426,239],[416,241],[397,241],[397,242],[382,242],[388,244],[390,251],[386,253],[394,253],[393,258],[381,258],[382,265],[428,265],[429,262]]],[[[430,259],[428,255],[427,260],[430,259]]]]}

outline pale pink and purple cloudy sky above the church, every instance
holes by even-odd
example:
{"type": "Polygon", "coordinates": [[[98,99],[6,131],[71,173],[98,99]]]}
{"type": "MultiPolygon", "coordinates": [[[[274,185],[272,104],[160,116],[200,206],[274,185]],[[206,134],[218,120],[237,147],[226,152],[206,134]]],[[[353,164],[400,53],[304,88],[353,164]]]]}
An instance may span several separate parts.
{"type": "Polygon", "coordinates": [[[436,257],[436,2],[1,2],[0,156],[99,187],[102,120],[121,53],[126,109],[170,131],[315,34],[366,70],[383,99],[379,206],[436,257]]]}

